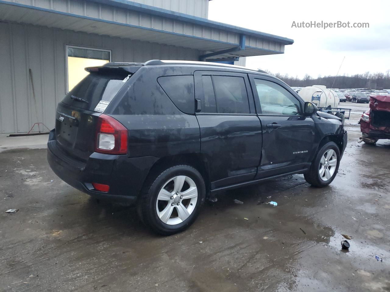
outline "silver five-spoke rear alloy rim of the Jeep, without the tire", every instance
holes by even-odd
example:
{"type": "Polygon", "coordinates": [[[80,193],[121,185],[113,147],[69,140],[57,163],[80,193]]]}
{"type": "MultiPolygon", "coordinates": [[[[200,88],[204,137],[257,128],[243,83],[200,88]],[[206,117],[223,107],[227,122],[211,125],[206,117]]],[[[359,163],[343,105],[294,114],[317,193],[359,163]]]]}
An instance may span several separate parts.
{"type": "Polygon", "coordinates": [[[198,201],[198,188],[188,176],[168,179],[158,193],[156,212],[158,218],[168,225],[186,220],[198,201]]]}

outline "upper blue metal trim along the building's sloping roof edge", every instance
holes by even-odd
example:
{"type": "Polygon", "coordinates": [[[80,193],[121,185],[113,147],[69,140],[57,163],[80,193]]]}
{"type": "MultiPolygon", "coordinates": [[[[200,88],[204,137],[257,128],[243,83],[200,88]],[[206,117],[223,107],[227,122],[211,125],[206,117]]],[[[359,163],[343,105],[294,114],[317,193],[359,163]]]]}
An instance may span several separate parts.
{"type": "Polygon", "coordinates": [[[147,14],[162,16],[162,17],[181,20],[185,22],[195,23],[197,25],[204,25],[204,26],[209,26],[209,27],[218,28],[222,30],[228,30],[230,32],[236,32],[239,34],[253,35],[254,37],[261,37],[263,39],[274,40],[286,45],[291,45],[294,43],[294,40],[288,39],[287,37],[280,37],[278,35],[272,35],[270,33],[265,33],[265,32],[257,32],[255,30],[250,30],[239,26],[229,25],[218,21],[212,21],[206,18],[192,16],[192,15],[188,15],[176,11],[170,11],[167,9],[140,4],[133,1],[128,1],[128,0],[89,0],[89,1],[97,2],[100,4],[108,4],[116,7],[121,7],[124,9],[130,9],[134,11],[144,12],[147,14]]]}

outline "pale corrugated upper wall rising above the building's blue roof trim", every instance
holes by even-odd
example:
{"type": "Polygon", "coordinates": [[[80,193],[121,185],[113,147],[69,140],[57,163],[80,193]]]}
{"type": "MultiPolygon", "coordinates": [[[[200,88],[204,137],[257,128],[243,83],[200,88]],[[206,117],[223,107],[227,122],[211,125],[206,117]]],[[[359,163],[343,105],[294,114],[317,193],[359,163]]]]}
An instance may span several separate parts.
{"type": "Polygon", "coordinates": [[[131,0],[163,9],[208,18],[209,0],[131,0]]]}

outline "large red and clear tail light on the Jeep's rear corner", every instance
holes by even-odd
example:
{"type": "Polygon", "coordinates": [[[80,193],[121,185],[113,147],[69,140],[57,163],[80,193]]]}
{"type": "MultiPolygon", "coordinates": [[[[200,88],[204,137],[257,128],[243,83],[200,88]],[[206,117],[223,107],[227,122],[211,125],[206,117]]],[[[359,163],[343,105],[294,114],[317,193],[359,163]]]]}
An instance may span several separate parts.
{"type": "Polygon", "coordinates": [[[101,114],[97,121],[95,151],[127,154],[128,130],[111,116],[101,114]]]}

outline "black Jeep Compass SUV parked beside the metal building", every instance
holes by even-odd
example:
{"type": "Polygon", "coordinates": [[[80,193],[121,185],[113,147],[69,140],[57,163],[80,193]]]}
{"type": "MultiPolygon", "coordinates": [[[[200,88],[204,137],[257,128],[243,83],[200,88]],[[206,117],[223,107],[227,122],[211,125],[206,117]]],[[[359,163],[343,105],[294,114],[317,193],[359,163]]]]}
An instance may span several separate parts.
{"type": "Polygon", "coordinates": [[[276,77],[161,60],[86,70],[57,106],[50,167],[92,197],[137,204],[157,233],[186,229],[222,190],[298,173],[323,187],[337,174],[340,119],[276,77]]]}

